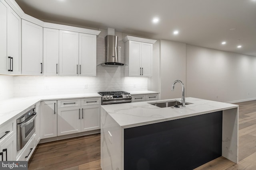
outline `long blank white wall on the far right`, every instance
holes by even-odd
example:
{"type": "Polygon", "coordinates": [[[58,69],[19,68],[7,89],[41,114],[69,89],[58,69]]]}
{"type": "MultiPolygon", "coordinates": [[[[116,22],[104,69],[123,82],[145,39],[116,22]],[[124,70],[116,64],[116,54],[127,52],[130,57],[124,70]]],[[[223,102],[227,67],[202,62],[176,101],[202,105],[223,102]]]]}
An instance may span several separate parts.
{"type": "Polygon", "coordinates": [[[187,97],[220,102],[256,98],[256,57],[192,45],[186,53],[187,97]]]}

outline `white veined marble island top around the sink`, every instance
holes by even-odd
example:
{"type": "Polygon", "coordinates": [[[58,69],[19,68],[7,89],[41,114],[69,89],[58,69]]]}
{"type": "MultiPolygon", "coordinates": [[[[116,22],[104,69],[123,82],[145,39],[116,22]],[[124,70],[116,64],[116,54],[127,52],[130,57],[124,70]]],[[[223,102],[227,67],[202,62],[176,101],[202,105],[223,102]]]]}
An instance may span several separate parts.
{"type": "MultiPolygon", "coordinates": [[[[238,105],[203,100],[198,98],[186,98],[186,102],[192,103],[186,107],[157,107],[149,103],[168,100],[156,100],[147,102],[135,102],[126,104],[102,105],[102,108],[123,128],[148,125],[162,121],[180,119],[194,115],[201,115],[215,111],[232,109],[238,105]]],[[[178,98],[180,100],[180,98],[178,98]]]]}

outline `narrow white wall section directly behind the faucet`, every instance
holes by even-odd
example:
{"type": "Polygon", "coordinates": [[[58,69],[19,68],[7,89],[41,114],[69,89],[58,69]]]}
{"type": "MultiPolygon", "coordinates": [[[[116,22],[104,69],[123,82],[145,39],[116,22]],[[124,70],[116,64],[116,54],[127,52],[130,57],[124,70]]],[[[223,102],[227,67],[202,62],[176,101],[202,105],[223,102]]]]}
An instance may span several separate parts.
{"type": "Polygon", "coordinates": [[[160,92],[161,99],[181,98],[182,86],[172,83],[181,80],[186,86],[186,44],[160,40],[160,92]]]}

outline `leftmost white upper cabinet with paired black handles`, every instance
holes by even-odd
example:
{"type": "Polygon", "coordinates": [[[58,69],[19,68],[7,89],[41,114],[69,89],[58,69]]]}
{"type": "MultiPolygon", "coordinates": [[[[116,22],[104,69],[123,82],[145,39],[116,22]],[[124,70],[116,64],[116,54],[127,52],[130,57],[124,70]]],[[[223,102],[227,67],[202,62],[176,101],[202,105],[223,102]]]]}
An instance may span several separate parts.
{"type": "Polygon", "coordinates": [[[0,74],[21,73],[21,19],[0,1],[0,74]]]}

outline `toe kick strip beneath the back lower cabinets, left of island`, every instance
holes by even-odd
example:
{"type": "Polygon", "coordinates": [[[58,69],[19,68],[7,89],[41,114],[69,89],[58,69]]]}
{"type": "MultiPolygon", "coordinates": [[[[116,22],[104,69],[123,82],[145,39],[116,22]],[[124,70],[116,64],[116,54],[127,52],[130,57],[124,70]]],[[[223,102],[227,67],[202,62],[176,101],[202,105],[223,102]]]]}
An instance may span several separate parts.
{"type": "Polygon", "coordinates": [[[39,143],[46,143],[46,142],[52,142],[52,141],[58,141],[62,139],[69,139],[73,137],[80,137],[80,136],[85,136],[85,135],[92,135],[100,133],[100,129],[93,130],[93,131],[88,131],[88,132],[80,132],[80,133],[74,133],[74,134],[69,134],[69,135],[63,135],[63,136],[57,136],[57,137],[51,137],[51,138],[46,138],[46,139],[41,139],[39,143]]]}

